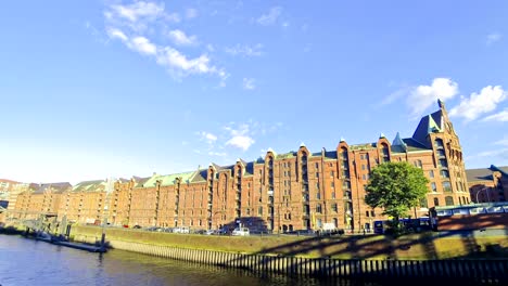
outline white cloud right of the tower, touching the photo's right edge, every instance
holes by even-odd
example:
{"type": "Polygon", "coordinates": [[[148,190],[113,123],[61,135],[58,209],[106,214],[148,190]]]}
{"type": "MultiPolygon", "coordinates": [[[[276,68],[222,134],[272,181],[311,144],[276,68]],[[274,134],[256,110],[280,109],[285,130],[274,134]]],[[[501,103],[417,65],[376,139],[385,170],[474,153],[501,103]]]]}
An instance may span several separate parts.
{"type": "Polygon", "coordinates": [[[473,92],[469,98],[461,98],[460,104],[449,110],[449,116],[463,117],[468,121],[474,120],[480,115],[494,110],[507,96],[508,93],[499,86],[485,87],[480,93],[473,92]]]}

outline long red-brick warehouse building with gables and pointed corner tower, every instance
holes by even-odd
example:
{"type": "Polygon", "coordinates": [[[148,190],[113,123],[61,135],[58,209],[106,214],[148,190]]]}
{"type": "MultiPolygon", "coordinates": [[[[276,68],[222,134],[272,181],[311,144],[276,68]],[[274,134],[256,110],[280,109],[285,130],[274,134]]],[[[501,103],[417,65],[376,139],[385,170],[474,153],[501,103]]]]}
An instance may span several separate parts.
{"type": "Polygon", "coordinates": [[[459,139],[443,102],[439,106],[421,118],[411,138],[397,133],[392,143],[381,134],[373,143],[341,140],[335,150],[317,153],[302,144],[284,154],[268,150],[255,161],[135,177],[111,187],[97,181],[60,194],[53,211],[77,222],[107,219],[131,226],[218,229],[240,221],[251,231],[319,230],[325,223],[370,230],[383,218],[364,203],[370,170],[384,161],[408,161],[430,180],[427,198],[411,211],[427,216],[429,207],[471,202],[459,139]]]}

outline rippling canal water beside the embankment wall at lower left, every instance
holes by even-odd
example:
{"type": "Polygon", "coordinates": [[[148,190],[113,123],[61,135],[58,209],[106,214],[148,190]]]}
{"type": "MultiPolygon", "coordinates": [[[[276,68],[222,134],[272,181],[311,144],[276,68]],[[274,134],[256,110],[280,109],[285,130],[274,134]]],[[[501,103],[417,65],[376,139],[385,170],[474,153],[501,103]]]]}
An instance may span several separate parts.
{"type": "Polygon", "coordinates": [[[327,281],[263,275],[175,261],[122,250],[99,255],[0,235],[0,285],[381,285],[358,281],[327,281]]]}

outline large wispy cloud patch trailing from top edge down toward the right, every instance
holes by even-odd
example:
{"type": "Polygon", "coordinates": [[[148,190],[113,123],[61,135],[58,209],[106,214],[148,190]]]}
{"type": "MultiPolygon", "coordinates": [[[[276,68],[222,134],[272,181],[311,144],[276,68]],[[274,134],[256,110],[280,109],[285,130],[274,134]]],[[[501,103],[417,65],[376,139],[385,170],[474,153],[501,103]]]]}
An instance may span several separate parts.
{"type": "MultiPolygon", "coordinates": [[[[188,15],[195,16],[196,12],[194,12],[188,10],[188,15]]],[[[207,53],[189,57],[174,47],[157,44],[150,40],[154,34],[162,34],[163,27],[168,21],[179,21],[178,14],[165,12],[163,3],[137,1],[126,5],[114,4],[109,6],[104,16],[106,34],[111,39],[120,40],[130,50],[151,56],[176,79],[189,75],[213,75],[220,78],[221,87],[226,84],[225,81],[229,74],[224,68],[212,64],[207,53]],[[150,27],[150,32],[144,32],[148,27],[150,27]]],[[[180,29],[173,29],[169,37],[178,46],[189,46],[196,42],[195,36],[187,36],[180,29]]]]}

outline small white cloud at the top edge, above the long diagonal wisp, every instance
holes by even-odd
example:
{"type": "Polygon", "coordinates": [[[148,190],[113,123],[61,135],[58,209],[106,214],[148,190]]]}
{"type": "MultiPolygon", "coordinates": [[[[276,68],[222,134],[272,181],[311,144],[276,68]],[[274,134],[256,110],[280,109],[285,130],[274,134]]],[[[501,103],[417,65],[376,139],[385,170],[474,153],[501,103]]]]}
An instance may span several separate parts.
{"type": "Polygon", "coordinates": [[[130,5],[112,5],[111,9],[116,15],[130,22],[137,22],[142,17],[155,18],[164,14],[164,3],[157,4],[144,1],[135,2],[130,5]]]}

